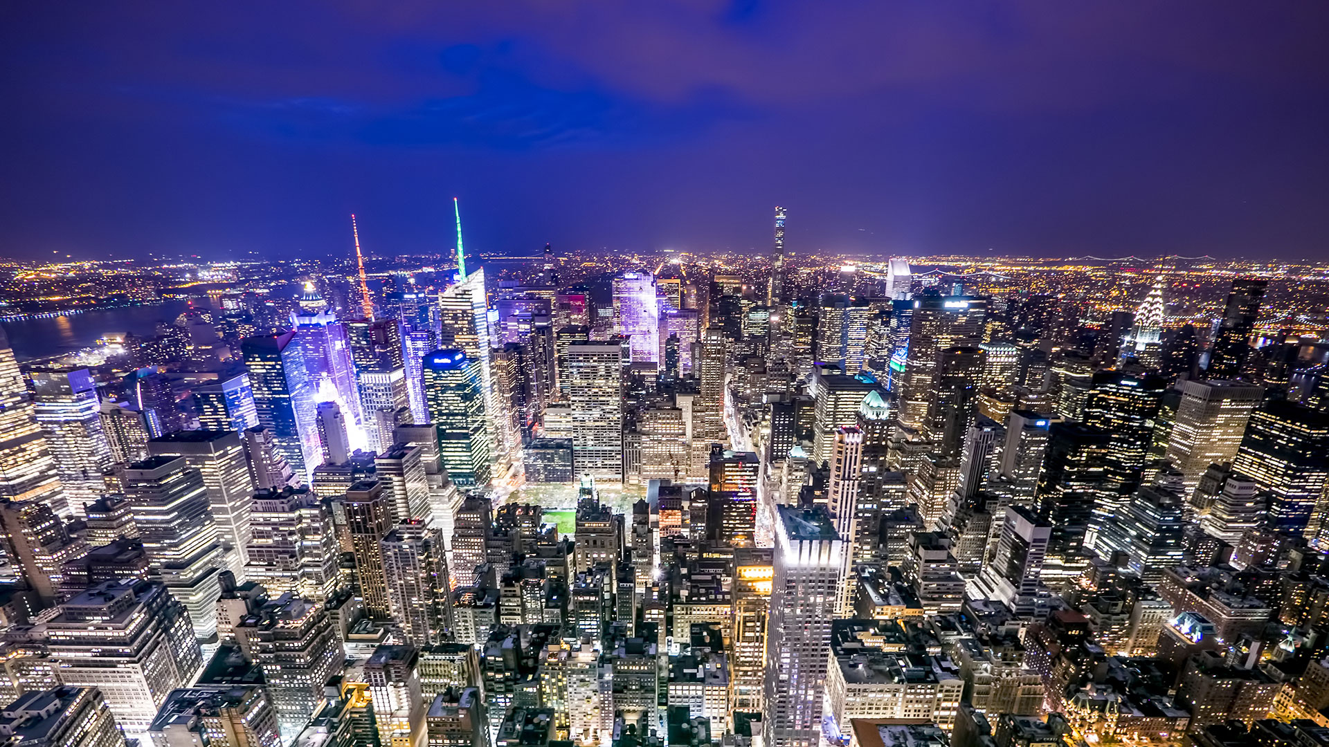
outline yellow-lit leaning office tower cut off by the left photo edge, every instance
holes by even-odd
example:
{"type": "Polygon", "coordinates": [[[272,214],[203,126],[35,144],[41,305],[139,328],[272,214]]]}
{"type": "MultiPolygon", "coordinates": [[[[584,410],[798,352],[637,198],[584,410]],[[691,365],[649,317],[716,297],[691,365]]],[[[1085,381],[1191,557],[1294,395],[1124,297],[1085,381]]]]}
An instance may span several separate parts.
{"type": "Polygon", "coordinates": [[[0,330],[0,497],[45,504],[61,516],[70,506],[51,448],[33,416],[28,385],[0,330]]]}

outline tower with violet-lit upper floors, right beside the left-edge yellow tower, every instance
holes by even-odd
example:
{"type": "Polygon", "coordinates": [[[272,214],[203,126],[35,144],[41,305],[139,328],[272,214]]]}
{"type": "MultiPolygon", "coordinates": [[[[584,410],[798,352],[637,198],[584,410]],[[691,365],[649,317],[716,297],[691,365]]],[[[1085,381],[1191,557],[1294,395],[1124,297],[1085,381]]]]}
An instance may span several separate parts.
{"type": "Polygon", "coordinates": [[[32,384],[33,413],[56,461],[65,502],[82,513],[102,493],[101,473],[112,464],[97,385],[86,368],[33,371],[32,384]]]}

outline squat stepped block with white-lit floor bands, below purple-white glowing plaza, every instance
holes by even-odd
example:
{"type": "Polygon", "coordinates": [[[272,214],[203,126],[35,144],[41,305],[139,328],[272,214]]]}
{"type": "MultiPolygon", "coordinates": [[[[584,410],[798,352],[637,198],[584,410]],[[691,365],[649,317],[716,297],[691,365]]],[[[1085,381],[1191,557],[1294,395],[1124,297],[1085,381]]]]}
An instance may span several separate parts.
{"type": "Polygon", "coordinates": [[[268,594],[326,599],[340,586],[332,513],[308,488],[260,488],[250,529],[245,576],[268,594]]]}

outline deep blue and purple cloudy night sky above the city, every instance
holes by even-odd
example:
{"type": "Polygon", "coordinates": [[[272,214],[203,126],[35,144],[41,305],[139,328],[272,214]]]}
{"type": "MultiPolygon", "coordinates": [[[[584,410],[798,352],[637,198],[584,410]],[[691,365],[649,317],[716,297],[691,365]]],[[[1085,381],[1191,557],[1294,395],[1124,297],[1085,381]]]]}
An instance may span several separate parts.
{"type": "Polygon", "coordinates": [[[1329,3],[0,5],[0,254],[1329,259],[1329,3]]]}

